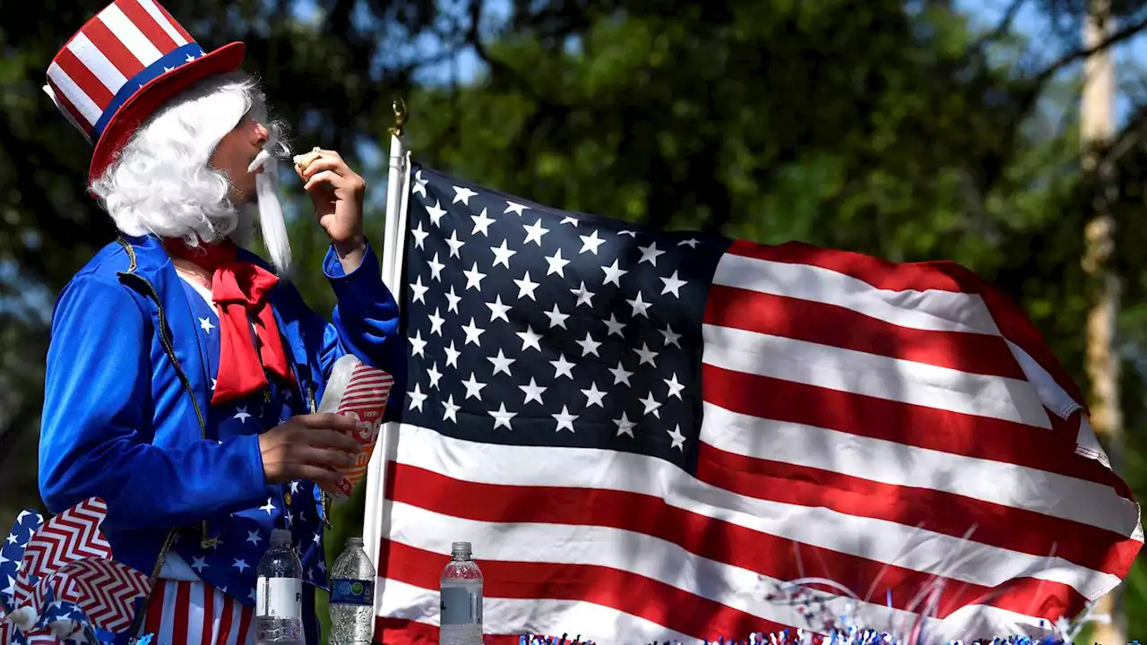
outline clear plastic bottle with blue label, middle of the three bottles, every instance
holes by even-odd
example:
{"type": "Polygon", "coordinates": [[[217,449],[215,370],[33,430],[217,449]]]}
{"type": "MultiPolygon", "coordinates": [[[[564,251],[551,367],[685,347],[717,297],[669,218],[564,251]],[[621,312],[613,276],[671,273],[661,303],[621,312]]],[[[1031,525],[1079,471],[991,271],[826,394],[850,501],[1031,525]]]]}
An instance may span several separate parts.
{"type": "Polygon", "coordinates": [[[330,645],[370,644],[374,577],[362,538],[346,538],[346,546],[330,568],[330,645]]]}

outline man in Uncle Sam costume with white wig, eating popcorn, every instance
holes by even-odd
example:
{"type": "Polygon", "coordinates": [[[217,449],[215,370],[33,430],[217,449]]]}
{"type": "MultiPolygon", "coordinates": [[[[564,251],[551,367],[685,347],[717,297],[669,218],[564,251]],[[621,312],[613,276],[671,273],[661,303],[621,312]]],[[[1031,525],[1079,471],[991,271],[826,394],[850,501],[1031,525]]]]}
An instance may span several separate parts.
{"type": "Polygon", "coordinates": [[[273,528],[294,534],[306,642],[319,642],[323,488],[359,444],[352,420],[314,412],[340,357],[401,364],[398,309],[362,233],[365,182],[336,151],[295,164],[330,238],[333,322],[287,281],[275,172],[289,150],[243,54],[204,53],[155,0],[115,0],[44,88],[92,142],[89,191],[119,238],[56,302],[40,492],[52,512],[106,500],[114,558],[156,580],[136,623],[159,645],[253,642],[273,528]],[[270,263],[243,248],[256,219],[270,263]]]}

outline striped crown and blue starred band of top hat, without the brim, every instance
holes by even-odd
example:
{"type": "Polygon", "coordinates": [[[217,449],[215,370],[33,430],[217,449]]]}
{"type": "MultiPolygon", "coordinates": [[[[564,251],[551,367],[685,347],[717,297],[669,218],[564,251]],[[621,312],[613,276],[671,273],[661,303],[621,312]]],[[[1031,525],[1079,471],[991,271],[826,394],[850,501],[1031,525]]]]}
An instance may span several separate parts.
{"type": "Polygon", "coordinates": [[[155,0],[115,0],[61,48],[45,92],[92,142],[133,94],[200,56],[200,47],[155,0]]]}

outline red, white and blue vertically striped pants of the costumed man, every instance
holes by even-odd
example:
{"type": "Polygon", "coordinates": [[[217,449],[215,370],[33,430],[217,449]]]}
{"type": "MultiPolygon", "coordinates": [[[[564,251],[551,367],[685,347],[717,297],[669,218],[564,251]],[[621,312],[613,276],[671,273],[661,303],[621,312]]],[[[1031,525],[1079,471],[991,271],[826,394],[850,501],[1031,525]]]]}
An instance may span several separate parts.
{"type": "Polygon", "coordinates": [[[202,582],[159,580],[143,634],[154,645],[255,645],[255,609],[202,582]]]}

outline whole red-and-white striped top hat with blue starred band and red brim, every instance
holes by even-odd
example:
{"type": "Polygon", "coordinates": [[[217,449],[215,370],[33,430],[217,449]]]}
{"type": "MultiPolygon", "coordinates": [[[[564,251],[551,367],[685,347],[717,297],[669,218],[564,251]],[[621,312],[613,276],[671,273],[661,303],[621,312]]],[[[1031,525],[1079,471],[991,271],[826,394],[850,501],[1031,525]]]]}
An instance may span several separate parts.
{"type": "Polygon", "coordinates": [[[60,49],[44,91],[95,143],[94,181],[157,108],[205,77],[235,71],[244,53],[242,42],[204,53],[156,0],[115,0],[60,49]]]}

